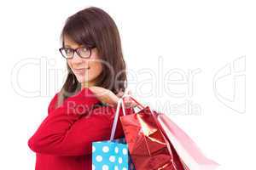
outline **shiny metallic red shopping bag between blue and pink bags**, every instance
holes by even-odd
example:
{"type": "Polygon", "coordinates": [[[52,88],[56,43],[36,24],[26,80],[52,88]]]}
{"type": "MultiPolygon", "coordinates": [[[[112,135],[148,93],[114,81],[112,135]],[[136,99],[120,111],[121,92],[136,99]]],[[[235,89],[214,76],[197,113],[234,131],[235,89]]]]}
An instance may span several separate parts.
{"type": "MultiPolygon", "coordinates": [[[[136,99],[132,98],[135,102],[136,99]]],[[[173,156],[173,149],[153,115],[150,108],[141,107],[135,114],[121,116],[125,139],[131,159],[139,170],[183,170],[178,157],[173,156]]]]}

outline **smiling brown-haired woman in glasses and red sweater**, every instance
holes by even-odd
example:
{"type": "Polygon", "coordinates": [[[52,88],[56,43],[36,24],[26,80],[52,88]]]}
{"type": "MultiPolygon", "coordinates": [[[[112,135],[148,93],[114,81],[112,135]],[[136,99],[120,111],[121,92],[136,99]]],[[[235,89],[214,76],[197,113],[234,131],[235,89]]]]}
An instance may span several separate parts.
{"type": "MultiPolygon", "coordinates": [[[[115,105],[126,86],[119,31],[102,9],[85,8],[67,19],[61,41],[67,80],[28,145],[37,155],[36,170],[90,170],[91,144],[110,138],[115,105]]],[[[134,106],[125,99],[126,114],[134,106]]],[[[119,122],[115,139],[121,137],[119,122]]]]}

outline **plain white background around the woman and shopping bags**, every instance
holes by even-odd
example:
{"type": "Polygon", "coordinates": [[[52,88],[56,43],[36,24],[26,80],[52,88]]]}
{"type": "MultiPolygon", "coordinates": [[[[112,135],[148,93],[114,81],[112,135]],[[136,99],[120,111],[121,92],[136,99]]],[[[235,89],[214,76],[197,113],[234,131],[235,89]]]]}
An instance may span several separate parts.
{"type": "Polygon", "coordinates": [[[255,168],[253,1],[23,0],[0,5],[0,169],[34,169],[27,140],[65,78],[61,28],[89,6],[116,21],[137,99],[170,114],[219,169],[255,168]]]}

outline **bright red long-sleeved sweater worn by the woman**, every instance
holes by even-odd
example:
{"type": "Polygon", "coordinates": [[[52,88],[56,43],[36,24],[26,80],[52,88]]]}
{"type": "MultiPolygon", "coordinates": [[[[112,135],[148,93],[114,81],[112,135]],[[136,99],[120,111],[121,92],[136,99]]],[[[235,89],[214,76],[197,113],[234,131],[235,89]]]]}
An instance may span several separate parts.
{"type": "MultiPolygon", "coordinates": [[[[28,140],[36,152],[36,170],[90,170],[91,144],[110,138],[116,108],[100,106],[90,88],[83,88],[55,108],[57,94],[49,102],[48,116],[28,140]]],[[[131,114],[132,109],[125,109],[131,114]]],[[[119,116],[123,112],[120,109],[119,116]]],[[[115,139],[124,137],[118,122],[115,139]]]]}

